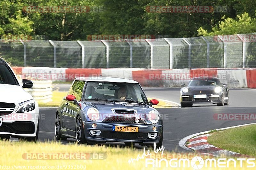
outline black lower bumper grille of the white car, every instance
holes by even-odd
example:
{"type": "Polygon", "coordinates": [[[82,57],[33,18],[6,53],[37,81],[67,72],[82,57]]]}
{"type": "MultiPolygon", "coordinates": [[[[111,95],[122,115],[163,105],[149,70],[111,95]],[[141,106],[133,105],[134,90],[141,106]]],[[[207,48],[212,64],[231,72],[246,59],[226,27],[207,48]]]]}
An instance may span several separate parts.
{"type": "Polygon", "coordinates": [[[33,134],[35,131],[35,126],[33,122],[3,122],[0,126],[0,132],[10,132],[17,134],[33,134]]]}

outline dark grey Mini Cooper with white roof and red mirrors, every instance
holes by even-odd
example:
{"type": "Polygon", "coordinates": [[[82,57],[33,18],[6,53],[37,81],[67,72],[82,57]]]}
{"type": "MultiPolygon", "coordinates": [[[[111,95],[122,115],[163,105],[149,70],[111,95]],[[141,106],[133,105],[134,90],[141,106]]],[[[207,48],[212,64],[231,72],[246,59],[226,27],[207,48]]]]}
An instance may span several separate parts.
{"type": "Polygon", "coordinates": [[[140,84],[110,77],[76,78],[56,112],[55,137],[80,144],[124,142],[161,147],[163,120],[140,84]]]}

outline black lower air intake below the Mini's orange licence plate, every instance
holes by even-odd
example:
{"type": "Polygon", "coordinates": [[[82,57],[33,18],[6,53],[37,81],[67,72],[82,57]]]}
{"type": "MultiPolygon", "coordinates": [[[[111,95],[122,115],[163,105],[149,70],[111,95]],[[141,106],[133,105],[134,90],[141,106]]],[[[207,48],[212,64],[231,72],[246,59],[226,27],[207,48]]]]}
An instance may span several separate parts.
{"type": "Polygon", "coordinates": [[[140,132],[111,132],[105,131],[102,137],[109,139],[144,140],[146,135],[140,132]]]}

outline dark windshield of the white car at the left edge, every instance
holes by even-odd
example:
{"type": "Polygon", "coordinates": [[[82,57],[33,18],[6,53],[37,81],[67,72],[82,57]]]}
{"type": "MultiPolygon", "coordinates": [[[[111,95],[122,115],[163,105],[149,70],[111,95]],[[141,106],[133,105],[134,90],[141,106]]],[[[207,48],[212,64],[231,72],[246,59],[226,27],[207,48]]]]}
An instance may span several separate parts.
{"type": "Polygon", "coordinates": [[[10,69],[0,60],[0,84],[17,85],[10,69]]]}

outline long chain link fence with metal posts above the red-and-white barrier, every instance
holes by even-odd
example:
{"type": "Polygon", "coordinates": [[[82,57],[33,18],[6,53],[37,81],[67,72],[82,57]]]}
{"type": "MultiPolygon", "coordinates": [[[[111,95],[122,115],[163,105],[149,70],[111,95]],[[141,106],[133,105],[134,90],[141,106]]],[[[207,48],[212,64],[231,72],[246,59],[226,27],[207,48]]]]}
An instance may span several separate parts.
{"type": "Polygon", "coordinates": [[[6,41],[0,55],[13,66],[67,68],[256,67],[256,34],[122,41],[6,41]]]}

